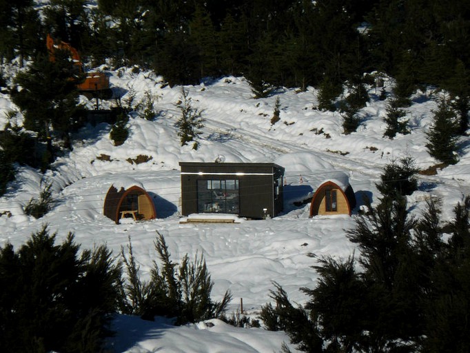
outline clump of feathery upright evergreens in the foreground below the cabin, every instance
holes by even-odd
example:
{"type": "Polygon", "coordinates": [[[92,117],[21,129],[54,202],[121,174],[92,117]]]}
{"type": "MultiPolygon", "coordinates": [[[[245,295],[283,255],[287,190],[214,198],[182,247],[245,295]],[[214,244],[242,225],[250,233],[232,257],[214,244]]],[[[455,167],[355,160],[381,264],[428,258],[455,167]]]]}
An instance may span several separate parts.
{"type": "Polygon", "coordinates": [[[203,256],[196,255],[194,261],[190,261],[186,254],[178,265],[171,259],[165,238],[158,234],[155,250],[160,263],[154,263],[150,281],[142,282],[131,243],[128,250],[127,256],[121,251],[127,269],[124,307],[128,314],[140,314],[147,320],[154,320],[156,315],[176,317],[176,325],[223,316],[232,296],[227,291],[222,301],[212,301],[210,294],[214,283],[203,256]]]}

